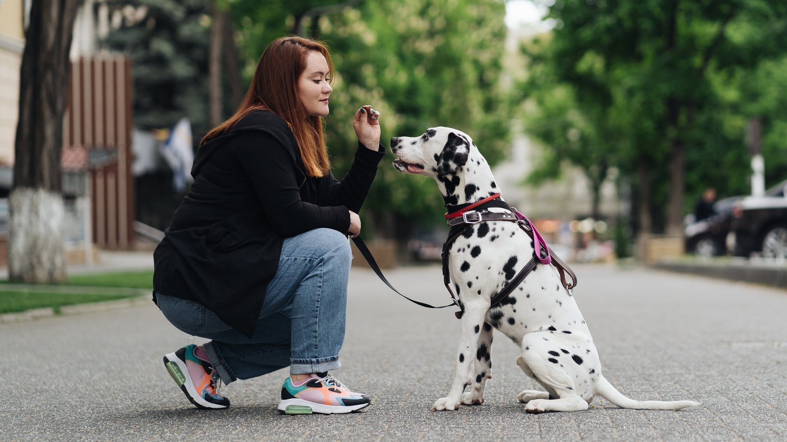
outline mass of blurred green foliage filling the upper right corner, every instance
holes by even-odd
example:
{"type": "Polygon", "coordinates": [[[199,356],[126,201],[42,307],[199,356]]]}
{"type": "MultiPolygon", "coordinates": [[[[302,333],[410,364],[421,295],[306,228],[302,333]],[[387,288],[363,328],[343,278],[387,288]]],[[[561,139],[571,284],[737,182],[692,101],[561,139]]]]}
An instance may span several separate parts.
{"type": "Polygon", "coordinates": [[[531,178],[556,176],[563,160],[591,182],[615,166],[634,187],[650,184],[656,216],[668,203],[689,212],[707,186],[748,192],[752,116],[763,116],[769,182],[787,172],[784,2],[563,0],[549,18],[550,35],[523,48],[526,129],[545,145],[531,178]],[[680,178],[667,169],[674,145],[685,153],[684,201],[668,201],[680,178]]]}

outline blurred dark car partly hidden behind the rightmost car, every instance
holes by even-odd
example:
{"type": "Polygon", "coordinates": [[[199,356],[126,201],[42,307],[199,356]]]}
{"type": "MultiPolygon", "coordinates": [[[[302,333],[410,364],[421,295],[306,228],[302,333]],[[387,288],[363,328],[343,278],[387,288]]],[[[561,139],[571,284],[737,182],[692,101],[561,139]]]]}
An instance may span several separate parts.
{"type": "Polygon", "coordinates": [[[733,204],[743,197],[729,197],[716,201],[713,210],[716,215],[689,223],[683,238],[686,252],[697,256],[719,256],[727,252],[726,238],[730,233],[733,218],[733,204]]]}

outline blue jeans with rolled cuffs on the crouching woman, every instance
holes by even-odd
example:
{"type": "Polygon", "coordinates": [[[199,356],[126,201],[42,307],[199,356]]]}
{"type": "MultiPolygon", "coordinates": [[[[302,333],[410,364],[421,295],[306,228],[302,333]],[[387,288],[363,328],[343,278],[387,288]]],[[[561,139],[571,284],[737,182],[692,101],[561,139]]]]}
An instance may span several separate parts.
{"type": "Polygon", "coordinates": [[[157,293],[157,304],[179,330],[212,340],[205,352],[225,384],[285,366],[291,374],[336,370],[342,366],[338,354],[351,259],[347,237],[336,230],[285,238],[250,338],[201,304],[162,293],[157,293]]]}

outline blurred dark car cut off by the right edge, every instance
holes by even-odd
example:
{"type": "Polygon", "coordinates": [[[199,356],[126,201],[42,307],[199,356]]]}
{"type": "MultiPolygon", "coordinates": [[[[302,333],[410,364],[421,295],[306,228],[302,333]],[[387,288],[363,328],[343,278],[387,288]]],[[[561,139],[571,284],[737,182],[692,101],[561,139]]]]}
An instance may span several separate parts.
{"type": "Polygon", "coordinates": [[[765,258],[787,257],[787,180],[763,197],[745,197],[733,204],[730,243],[735,256],[760,252],[765,258]]]}

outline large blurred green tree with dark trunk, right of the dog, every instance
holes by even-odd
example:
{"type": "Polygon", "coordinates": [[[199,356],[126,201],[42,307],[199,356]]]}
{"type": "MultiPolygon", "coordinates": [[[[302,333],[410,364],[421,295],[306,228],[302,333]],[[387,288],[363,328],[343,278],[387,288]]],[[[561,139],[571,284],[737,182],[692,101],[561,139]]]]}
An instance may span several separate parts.
{"type": "Polygon", "coordinates": [[[730,166],[730,188],[740,186],[745,147],[742,131],[730,131],[744,120],[726,112],[723,80],[783,57],[787,4],[565,0],[549,9],[556,27],[537,62],[574,88],[597,133],[611,133],[600,118],[614,119],[610,154],[637,188],[641,232],[652,230],[651,208],[667,212],[668,234],[681,232],[686,184],[720,178],[693,172],[709,161],[730,166]]]}

